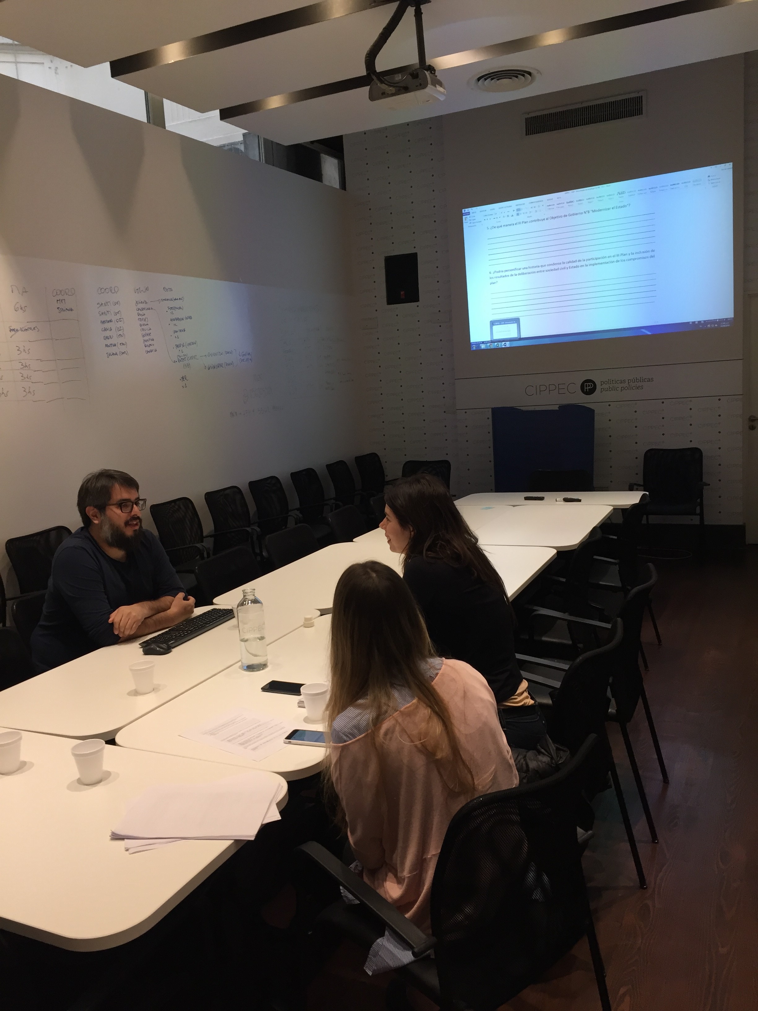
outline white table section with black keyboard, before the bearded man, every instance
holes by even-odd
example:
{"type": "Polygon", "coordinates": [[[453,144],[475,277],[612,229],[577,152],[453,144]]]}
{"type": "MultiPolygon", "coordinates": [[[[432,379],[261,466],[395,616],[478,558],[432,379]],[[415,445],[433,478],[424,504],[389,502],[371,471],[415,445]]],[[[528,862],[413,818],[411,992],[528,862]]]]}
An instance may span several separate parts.
{"type": "MultiPolygon", "coordinates": [[[[196,614],[207,610],[198,608],[196,614]]],[[[156,661],[156,687],[149,695],[137,695],[129,664],[148,659],[139,649],[143,639],[96,649],[0,692],[0,725],[109,740],[127,723],[240,658],[240,637],[232,619],[166,656],[150,657],[156,661]]]]}

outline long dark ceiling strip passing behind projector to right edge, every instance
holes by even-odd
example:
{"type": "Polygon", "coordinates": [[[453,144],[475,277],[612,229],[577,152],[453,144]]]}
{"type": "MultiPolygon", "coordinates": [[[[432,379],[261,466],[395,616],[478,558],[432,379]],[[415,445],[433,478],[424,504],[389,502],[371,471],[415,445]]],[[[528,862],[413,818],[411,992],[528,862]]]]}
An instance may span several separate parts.
{"type": "MultiPolygon", "coordinates": [[[[604,35],[610,31],[623,31],[625,28],[635,28],[644,24],[654,24],[657,21],[668,21],[687,14],[699,14],[703,11],[717,10],[720,7],[732,7],[739,3],[755,3],[756,0],[677,0],[676,3],[662,4],[660,7],[648,7],[645,10],[631,11],[628,14],[617,14],[613,17],[603,17],[595,21],[585,21],[568,28],[558,28],[555,31],[543,31],[536,35],[525,35],[508,42],[497,42],[485,45],[479,50],[466,50],[463,53],[453,53],[447,57],[436,57],[431,61],[437,71],[450,70],[453,67],[463,67],[466,64],[481,63],[497,57],[512,56],[515,53],[529,53],[546,45],[558,45],[561,42],[577,38],[590,38],[593,35],[604,35]]],[[[414,65],[394,67],[383,70],[382,74],[401,74],[414,65]]],[[[323,98],[326,95],[338,95],[346,91],[356,91],[367,88],[371,83],[368,74],[360,77],[349,77],[343,81],[333,81],[329,84],[319,84],[300,91],[289,91],[282,95],[272,95],[269,98],[259,98],[252,102],[242,102],[229,105],[220,110],[221,119],[229,120],[252,112],[263,112],[266,109],[277,109],[284,105],[295,105],[313,98],[323,98]]]]}

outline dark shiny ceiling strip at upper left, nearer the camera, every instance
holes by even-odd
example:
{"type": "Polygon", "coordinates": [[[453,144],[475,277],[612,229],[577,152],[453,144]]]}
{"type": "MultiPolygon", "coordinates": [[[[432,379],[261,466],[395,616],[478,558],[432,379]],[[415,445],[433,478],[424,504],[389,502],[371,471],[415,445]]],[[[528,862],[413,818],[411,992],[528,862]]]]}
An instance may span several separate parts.
{"type": "MultiPolygon", "coordinates": [[[[170,42],[155,50],[146,50],[130,57],[111,60],[110,76],[126,77],[140,70],[152,70],[154,67],[179,63],[205,53],[216,53],[218,50],[227,50],[243,42],[255,41],[257,38],[279,35],[283,31],[320,24],[336,17],[345,17],[346,14],[358,14],[364,10],[373,10],[374,7],[384,7],[386,4],[396,2],[397,0],[320,0],[319,3],[285,10],[281,14],[270,14],[255,21],[246,21],[245,24],[234,24],[230,28],[220,28],[205,35],[196,35],[183,42],[170,42]]],[[[429,0],[423,2],[429,3],[429,0]]]]}

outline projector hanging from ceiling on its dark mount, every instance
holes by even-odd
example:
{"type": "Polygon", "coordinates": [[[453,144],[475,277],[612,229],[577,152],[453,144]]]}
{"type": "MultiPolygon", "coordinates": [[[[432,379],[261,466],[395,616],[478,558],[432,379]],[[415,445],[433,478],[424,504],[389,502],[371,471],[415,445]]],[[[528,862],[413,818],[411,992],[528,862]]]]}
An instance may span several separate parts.
{"type": "Polygon", "coordinates": [[[423,44],[423,21],[421,4],[429,0],[399,0],[392,17],[382,28],[376,40],[366,54],[366,73],[371,78],[369,99],[372,102],[384,102],[388,109],[409,109],[416,105],[430,105],[441,102],[446,95],[445,85],[435,72],[435,68],[427,63],[427,52],[423,44]],[[415,43],[418,53],[418,66],[403,68],[393,73],[379,73],[376,69],[376,58],[384,49],[387,39],[402,20],[405,11],[412,4],[415,20],[415,43]]]}

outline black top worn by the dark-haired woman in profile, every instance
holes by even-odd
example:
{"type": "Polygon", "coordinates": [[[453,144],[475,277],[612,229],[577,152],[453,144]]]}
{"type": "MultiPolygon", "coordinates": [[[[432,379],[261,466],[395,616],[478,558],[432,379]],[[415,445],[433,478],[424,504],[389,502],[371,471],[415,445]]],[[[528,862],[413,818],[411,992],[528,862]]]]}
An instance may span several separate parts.
{"type": "Polygon", "coordinates": [[[405,562],[403,578],[438,656],[470,663],[487,678],[496,702],[514,696],[524,678],[503,594],[469,568],[420,556],[405,562]]]}

